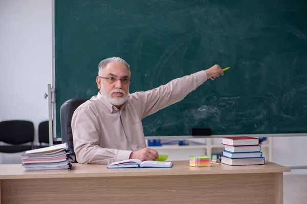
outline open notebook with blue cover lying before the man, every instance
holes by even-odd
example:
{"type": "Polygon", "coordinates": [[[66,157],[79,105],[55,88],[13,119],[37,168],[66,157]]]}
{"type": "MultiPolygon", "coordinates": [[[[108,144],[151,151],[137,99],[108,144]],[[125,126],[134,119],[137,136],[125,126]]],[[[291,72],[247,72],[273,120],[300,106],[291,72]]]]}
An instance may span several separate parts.
{"type": "Polygon", "coordinates": [[[129,159],[119,162],[113,162],[106,168],[170,168],[171,162],[159,162],[159,161],[144,161],[138,159],[129,159]]]}

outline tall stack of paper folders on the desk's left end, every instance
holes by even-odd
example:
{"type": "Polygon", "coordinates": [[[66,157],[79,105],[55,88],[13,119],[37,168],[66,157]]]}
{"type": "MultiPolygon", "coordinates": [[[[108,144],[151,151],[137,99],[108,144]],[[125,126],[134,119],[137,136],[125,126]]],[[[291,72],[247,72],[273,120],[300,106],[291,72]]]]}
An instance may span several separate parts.
{"type": "Polygon", "coordinates": [[[21,155],[24,171],[71,170],[71,150],[67,143],[33,149],[21,155]]]}

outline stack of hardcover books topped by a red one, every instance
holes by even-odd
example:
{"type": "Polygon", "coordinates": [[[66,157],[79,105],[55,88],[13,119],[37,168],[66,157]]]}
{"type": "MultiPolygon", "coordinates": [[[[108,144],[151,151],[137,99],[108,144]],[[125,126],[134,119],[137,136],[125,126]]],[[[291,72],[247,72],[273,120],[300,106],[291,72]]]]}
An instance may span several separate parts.
{"type": "Polygon", "coordinates": [[[224,151],[221,163],[231,166],[265,164],[262,157],[259,138],[255,137],[224,137],[224,151]]]}

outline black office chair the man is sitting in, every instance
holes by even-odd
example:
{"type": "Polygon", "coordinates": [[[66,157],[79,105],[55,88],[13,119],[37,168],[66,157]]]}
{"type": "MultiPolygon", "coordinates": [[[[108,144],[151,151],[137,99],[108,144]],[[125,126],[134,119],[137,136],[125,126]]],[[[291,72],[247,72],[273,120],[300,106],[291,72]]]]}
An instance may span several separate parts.
{"type": "Polygon", "coordinates": [[[73,98],[65,101],[60,108],[61,135],[62,143],[67,142],[68,147],[73,151],[72,157],[74,162],[77,162],[74,152],[74,139],[72,133],[72,117],[74,111],[83,104],[88,98],[73,98]]]}

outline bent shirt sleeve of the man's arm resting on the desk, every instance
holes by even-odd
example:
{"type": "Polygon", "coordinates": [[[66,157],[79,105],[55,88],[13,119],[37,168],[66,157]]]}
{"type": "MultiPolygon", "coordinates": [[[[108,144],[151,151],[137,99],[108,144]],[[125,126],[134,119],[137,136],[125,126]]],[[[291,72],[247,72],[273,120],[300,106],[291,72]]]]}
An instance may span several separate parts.
{"type": "Polygon", "coordinates": [[[111,164],[129,159],[132,151],[99,146],[99,123],[90,107],[79,107],[73,115],[71,125],[78,163],[111,164]]]}

